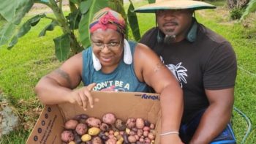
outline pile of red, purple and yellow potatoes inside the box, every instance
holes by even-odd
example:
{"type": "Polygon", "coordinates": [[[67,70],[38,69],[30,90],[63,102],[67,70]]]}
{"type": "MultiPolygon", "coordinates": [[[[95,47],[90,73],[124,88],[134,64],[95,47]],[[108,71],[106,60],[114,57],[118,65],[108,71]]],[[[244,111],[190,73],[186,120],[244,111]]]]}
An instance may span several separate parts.
{"type": "Polygon", "coordinates": [[[102,119],[81,114],[66,121],[61,140],[68,144],[152,144],[156,137],[155,125],[143,118],[122,121],[113,113],[102,119]]]}

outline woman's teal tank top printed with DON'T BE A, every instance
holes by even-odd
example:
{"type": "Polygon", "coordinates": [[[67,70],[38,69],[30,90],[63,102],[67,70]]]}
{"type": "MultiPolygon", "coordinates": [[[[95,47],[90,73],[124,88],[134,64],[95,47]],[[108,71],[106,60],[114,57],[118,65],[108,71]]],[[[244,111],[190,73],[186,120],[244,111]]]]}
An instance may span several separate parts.
{"type": "MultiPolygon", "coordinates": [[[[130,42],[129,46],[134,56],[135,46],[137,43],[130,42]]],[[[135,75],[134,64],[125,64],[123,58],[118,67],[108,74],[96,71],[92,62],[92,48],[83,50],[83,74],[82,81],[84,86],[91,83],[97,83],[94,91],[139,91],[148,92],[146,83],[141,83],[135,75]]]]}

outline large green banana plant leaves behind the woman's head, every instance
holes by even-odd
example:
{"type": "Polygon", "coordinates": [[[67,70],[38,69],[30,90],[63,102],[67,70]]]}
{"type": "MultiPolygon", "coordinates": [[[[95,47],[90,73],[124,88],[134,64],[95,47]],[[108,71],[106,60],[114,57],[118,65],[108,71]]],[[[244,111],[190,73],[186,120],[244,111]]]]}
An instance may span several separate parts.
{"type": "MultiPolygon", "coordinates": [[[[103,7],[110,7],[121,13],[127,22],[127,29],[132,30],[135,40],[140,39],[140,29],[137,15],[132,1],[129,0],[127,12],[124,10],[122,0],[69,0],[70,12],[67,16],[62,10],[62,0],[0,0],[0,15],[7,21],[0,28],[0,46],[7,45],[11,49],[20,37],[27,34],[31,27],[37,26],[42,18],[50,19],[51,22],[39,33],[39,37],[45,36],[47,31],[53,31],[56,26],[61,28],[62,34],[53,39],[55,54],[59,61],[64,61],[75,53],[79,53],[90,45],[89,23],[95,12],[103,7]],[[34,15],[23,22],[23,18],[35,4],[44,4],[53,11],[54,16],[46,13],[34,15]],[[19,28],[19,29],[18,29],[19,28]],[[78,31],[78,36],[75,35],[78,31]],[[79,39],[79,41],[78,41],[79,39]]],[[[148,0],[151,2],[152,0],[148,0]]],[[[154,0],[153,0],[154,1],[154,0]]],[[[128,31],[127,31],[128,36],[128,31]]]]}

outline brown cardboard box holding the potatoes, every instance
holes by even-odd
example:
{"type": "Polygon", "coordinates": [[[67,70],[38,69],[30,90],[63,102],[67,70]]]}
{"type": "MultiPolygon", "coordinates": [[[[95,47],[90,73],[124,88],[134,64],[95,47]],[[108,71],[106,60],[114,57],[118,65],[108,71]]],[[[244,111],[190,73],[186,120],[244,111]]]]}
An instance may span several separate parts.
{"type": "MultiPolygon", "coordinates": [[[[88,108],[86,111],[78,105],[69,103],[45,105],[26,143],[61,144],[64,122],[82,113],[96,118],[102,118],[104,113],[114,113],[123,121],[127,118],[144,118],[156,124],[157,133],[159,132],[158,94],[109,91],[93,91],[91,94],[94,98],[98,98],[99,102],[94,102],[94,108],[88,108]]],[[[158,142],[159,137],[156,139],[156,143],[158,142]]]]}

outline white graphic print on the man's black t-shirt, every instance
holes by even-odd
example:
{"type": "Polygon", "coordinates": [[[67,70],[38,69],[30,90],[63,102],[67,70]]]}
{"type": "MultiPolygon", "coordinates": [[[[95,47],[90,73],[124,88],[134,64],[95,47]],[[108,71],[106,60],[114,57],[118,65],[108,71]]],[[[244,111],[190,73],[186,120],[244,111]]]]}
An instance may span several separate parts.
{"type": "MultiPolygon", "coordinates": [[[[163,61],[162,56],[160,56],[160,59],[165,64],[165,61],[163,61]]],[[[176,77],[176,79],[180,82],[181,88],[183,87],[182,83],[187,83],[186,77],[187,77],[187,69],[183,66],[181,66],[182,62],[174,65],[174,64],[165,64],[166,67],[170,70],[170,72],[173,73],[173,75],[176,77]]]]}

